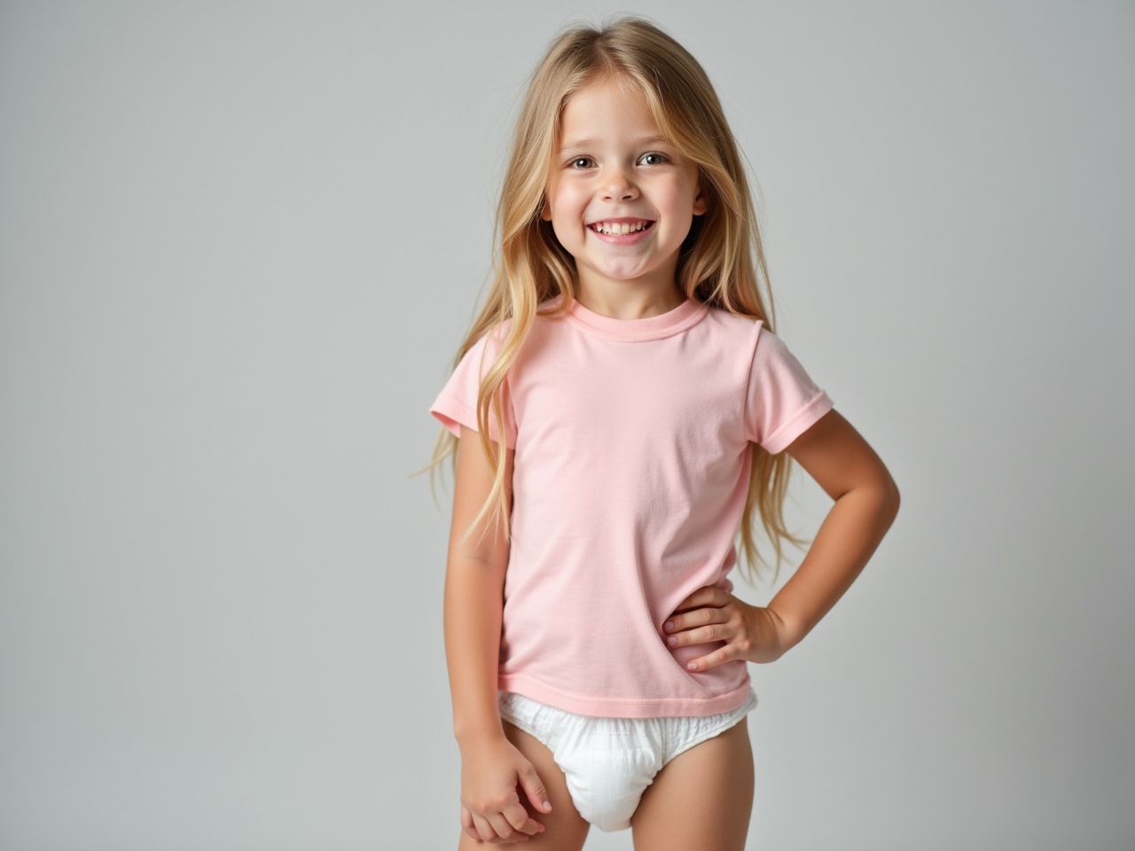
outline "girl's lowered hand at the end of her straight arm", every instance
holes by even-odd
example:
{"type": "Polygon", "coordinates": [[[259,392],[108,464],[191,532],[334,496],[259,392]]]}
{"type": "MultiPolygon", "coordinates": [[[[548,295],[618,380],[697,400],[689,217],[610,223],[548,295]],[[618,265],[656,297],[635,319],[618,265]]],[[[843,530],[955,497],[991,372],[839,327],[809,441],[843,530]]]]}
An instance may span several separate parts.
{"type": "Polygon", "coordinates": [[[507,739],[481,740],[461,749],[461,827],[474,840],[503,845],[543,833],[521,802],[518,785],[537,812],[550,812],[536,768],[507,739]]]}

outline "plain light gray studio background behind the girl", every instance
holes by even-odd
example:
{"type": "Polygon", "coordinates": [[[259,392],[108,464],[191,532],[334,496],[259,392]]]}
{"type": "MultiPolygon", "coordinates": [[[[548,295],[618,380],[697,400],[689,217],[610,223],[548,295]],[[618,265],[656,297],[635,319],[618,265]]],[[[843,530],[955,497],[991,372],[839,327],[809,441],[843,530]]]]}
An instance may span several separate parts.
{"type": "MultiPolygon", "coordinates": [[[[411,473],[524,78],[624,9],[0,5],[0,848],[454,845],[452,488],[411,473]]],[[[1135,846],[1135,6],[633,10],[903,495],[753,668],[750,848],[1135,846]]]]}

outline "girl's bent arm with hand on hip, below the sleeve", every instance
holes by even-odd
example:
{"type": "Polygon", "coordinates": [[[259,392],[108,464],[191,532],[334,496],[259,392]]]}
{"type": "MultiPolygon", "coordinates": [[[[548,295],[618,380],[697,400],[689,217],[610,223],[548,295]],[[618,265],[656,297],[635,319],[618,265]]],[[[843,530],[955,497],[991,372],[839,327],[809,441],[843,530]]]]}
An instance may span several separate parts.
{"type": "Polygon", "coordinates": [[[800,566],[766,607],[713,585],[679,604],[666,622],[672,647],[724,641],[689,664],[705,671],[731,659],[774,662],[827,614],[859,575],[899,511],[899,489],[875,450],[836,411],[785,449],[835,504],[800,566]]]}

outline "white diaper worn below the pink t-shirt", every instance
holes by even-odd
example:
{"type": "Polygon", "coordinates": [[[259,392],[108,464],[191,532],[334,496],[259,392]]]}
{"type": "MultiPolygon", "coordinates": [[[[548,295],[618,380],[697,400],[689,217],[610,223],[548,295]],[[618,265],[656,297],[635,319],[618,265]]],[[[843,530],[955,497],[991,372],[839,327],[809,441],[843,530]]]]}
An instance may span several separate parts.
{"type": "Polygon", "coordinates": [[[565,713],[514,692],[497,694],[501,717],[555,757],[579,815],[600,831],[623,831],[654,776],[671,759],[737,724],[756,705],[749,696],[728,713],[663,718],[606,718],[565,713]]]}

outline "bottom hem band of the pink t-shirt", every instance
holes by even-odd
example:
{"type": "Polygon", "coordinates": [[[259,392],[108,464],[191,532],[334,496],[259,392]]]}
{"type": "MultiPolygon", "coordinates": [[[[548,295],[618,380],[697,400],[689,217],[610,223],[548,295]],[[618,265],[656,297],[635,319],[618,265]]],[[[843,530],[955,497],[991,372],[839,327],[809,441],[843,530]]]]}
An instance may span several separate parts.
{"type": "Polygon", "coordinates": [[[523,674],[501,674],[497,677],[497,689],[501,691],[523,694],[568,713],[606,718],[718,715],[732,711],[745,703],[751,688],[751,681],[746,672],[743,682],[735,689],[708,698],[597,698],[573,694],[523,674]]]}

